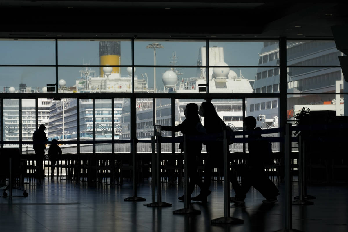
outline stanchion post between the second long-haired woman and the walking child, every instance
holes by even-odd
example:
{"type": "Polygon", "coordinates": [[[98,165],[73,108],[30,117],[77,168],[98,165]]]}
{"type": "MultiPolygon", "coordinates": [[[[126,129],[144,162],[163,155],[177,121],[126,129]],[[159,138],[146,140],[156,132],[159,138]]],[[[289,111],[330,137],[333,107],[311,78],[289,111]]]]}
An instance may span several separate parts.
{"type": "Polygon", "coordinates": [[[244,220],[230,217],[230,182],[228,179],[229,159],[228,159],[228,144],[226,138],[226,130],[223,130],[223,202],[224,202],[224,217],[219,217],[211,220],[212,224],[243,224],[244,220]]]}

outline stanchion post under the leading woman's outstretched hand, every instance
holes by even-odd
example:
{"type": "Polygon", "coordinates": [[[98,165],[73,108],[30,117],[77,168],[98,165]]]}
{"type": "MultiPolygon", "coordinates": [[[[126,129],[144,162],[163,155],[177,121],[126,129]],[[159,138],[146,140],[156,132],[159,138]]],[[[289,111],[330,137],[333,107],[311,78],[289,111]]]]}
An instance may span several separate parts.
{"type": "MultiPolygon", "coordinates": [[[[156,135],[156,169],[157,169],[157,201],[154,201],[155,198],[154,195],[152,195],[152,203],[147,204],[148,207],[169,207],[172,206],[171,203],[163,202],[162,201],[162,194],[161,194],[161,143],[160,143],[160,137],[161,137],[161,129],[160,125],[155,125],[155,135],[156,135]]],[[[153,141],[153,140],[151,140],[153,141]]],[[[152,165],[153,168],[154,164],[152,165]]],[[[155,170],[153,170],[155,172],[155,170]]],[[[153,175],[152,175],[153,177],[153,175]]],[[[152,187],[152,194],[154,194],[154,190],[152,187]]]]}

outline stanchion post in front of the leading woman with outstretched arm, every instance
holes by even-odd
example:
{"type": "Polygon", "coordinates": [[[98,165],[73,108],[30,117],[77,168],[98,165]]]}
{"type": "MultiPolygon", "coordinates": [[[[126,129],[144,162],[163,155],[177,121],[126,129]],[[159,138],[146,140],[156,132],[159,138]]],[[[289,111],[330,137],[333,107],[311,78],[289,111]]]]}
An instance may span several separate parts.
{"type": "Polygon", "coordinates": [[[200,210],[189,208],[189,197],[191,197],[191,193],[189,195],[188,185],[189,185],[189,173],[187,170],[187,142],[186,135],[183,134],[183,147],[184,147],[184,208],[174,210],[173,214],[200,214],[200,210]]]}

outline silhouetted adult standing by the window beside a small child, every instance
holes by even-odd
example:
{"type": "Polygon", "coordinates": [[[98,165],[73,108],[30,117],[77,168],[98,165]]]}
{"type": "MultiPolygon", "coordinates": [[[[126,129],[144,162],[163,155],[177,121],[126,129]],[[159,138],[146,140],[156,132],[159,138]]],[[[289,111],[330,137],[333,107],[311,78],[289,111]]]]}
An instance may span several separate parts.
{"type": "Polygon", "coordinates": [[[36,155],[36,176],[38,179],[46,177],[42,163],[45,157],[46,144],[48,143],[45,128],[45,125],[42,124],[39,129],[35,130],[33,133],[33,149],[36,155]]]}

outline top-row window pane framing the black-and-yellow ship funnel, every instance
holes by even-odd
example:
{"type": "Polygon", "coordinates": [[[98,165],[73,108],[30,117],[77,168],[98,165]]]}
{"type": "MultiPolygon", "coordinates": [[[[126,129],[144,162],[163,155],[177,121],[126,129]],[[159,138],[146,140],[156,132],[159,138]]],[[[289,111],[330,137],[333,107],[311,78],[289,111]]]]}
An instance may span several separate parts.
{"type": "Polygon", "coordinates": [[[130,40],[58,40],[58,65],[131,65],[130,40]]]}

